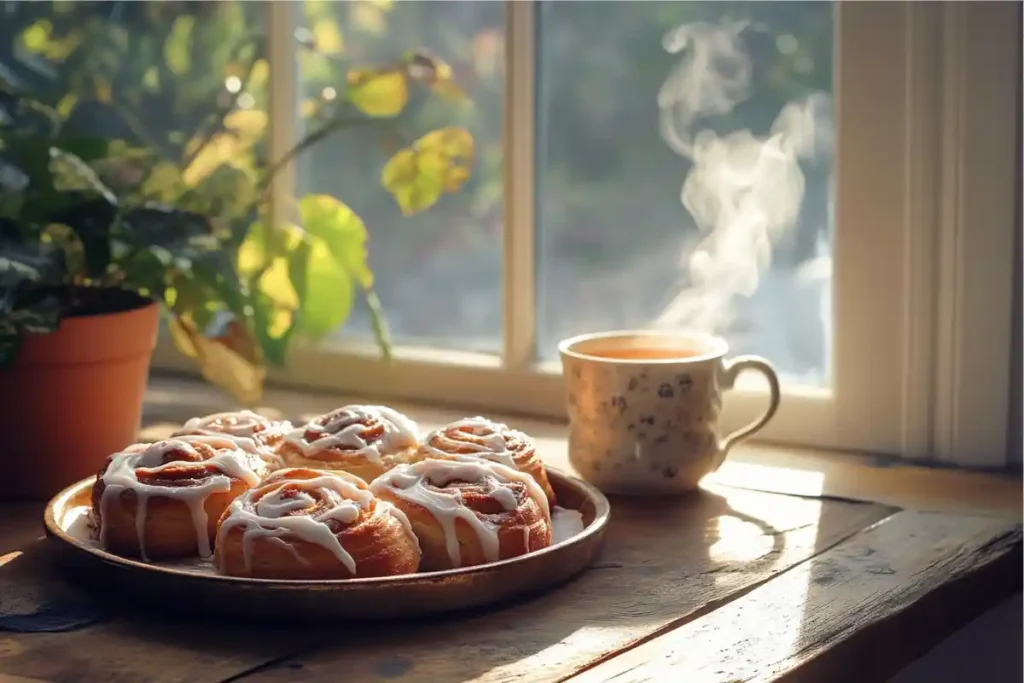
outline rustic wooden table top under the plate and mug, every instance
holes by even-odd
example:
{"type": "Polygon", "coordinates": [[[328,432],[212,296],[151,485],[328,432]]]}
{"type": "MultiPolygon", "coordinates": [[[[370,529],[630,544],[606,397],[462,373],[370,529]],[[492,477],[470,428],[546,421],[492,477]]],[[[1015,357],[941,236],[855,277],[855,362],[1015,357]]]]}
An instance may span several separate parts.
{"type": "MultiPolygon", "coordinates": [[[[166,417],[150,411],[151,434],[166,430],[166,417]]],[[[867,683],[1021,589],[1016,519],[720,484],[611,504],[598,562],[518,604],[315,628],[114,609],[65,633],[0,631],[0,683],[867,683]]],[[[41,509],[0,504],[8,611],[71,590],[39,540],[41,509]]]]}

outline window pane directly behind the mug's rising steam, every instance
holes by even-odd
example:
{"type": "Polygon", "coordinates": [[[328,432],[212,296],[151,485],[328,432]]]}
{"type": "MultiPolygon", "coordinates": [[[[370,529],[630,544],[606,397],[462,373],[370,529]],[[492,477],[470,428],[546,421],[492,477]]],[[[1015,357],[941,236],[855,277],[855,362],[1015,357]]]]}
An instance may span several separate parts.
{"type": "Polygon", "coordinates": [[[827,3],[545,2],[538,333],[724,335],[828,382],[827,3]]]}

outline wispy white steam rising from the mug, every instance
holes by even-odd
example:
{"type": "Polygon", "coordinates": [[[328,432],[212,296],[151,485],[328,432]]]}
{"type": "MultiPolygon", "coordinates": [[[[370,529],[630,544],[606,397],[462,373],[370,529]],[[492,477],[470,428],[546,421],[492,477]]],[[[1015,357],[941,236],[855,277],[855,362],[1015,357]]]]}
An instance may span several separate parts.
{"type": "Polygon", "coordinates": [[[682,54],[657,95],[662,137],[693,166],[683,206],[705,237],[680,267],[689,273],[655,327],[720,332],[735,295],[751,296],[771,264],[772,246],[797,222],[804,199],[801,159],[830,148],[830,102],[824,95],[782,108],[770,132],[719,136],[694,132],[701,119],[726,115],[750,96],[753,70],[742,34],[746,22],[695,23],[667,34],[666,50],[682,54]]]}

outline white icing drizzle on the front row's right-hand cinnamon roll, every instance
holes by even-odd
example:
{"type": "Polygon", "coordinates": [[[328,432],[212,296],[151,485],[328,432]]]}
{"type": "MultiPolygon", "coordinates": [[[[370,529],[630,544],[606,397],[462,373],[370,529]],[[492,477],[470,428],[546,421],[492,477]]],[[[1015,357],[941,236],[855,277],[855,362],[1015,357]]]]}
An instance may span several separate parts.
{"type": "MultiPolygon", "coordinates": [[[[548,498],[544,490],[534,480],[534,477],[511,467],[485,461],[453,461],[423,460],[413,465],[399,465],[377,477],[370,484],[374,493],[387,490],[409,503],[419,505],[427,510],[440,524],[444,531],[444,546],[452,565],[462,566],[462,553],[459,549],[459,538],[456,533],[456,520],[462,519],[472,528],[479,539],[483,556],[488,562],[496,562],[500,557],[498,525],[487,520],[486,515],[478,515],[466,507],[462,500],[462,492],[453,488],[451,492],[439,490],[452,481],[482,481],[493,477],[499,483],[518,481],[526,488],[526,494],[544,511],[545,517],[551,520],[548,509],[548,498]],[[431,484],[429,487],[425,484],[431,484]]],[[[497,486],[489,495],[498,501],[506,511],[515,510],[518,501],[510,488],[497,486]]],[[[523,532],[528,548],[529,530],[523,532]]]]}

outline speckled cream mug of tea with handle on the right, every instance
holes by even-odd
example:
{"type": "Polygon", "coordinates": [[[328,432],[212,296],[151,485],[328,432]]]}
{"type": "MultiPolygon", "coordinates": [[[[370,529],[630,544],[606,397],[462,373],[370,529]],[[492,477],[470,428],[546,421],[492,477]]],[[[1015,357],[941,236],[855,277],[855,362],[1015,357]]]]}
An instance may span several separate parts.
{"type": "Polygon", "coordinates": [[[726,359],[728,350],[719,337],[672,332],[605,332],[561,342],[572,466],[610,494],[695,488],[736,441],[764,427],[778,409],[771,365],[751,355],[726,359]],[[615,354],[635,357],[609,357],[615,354]],[[767,378],[768,408],[722,438],[722,393],[746,370],[767,378]]]}

